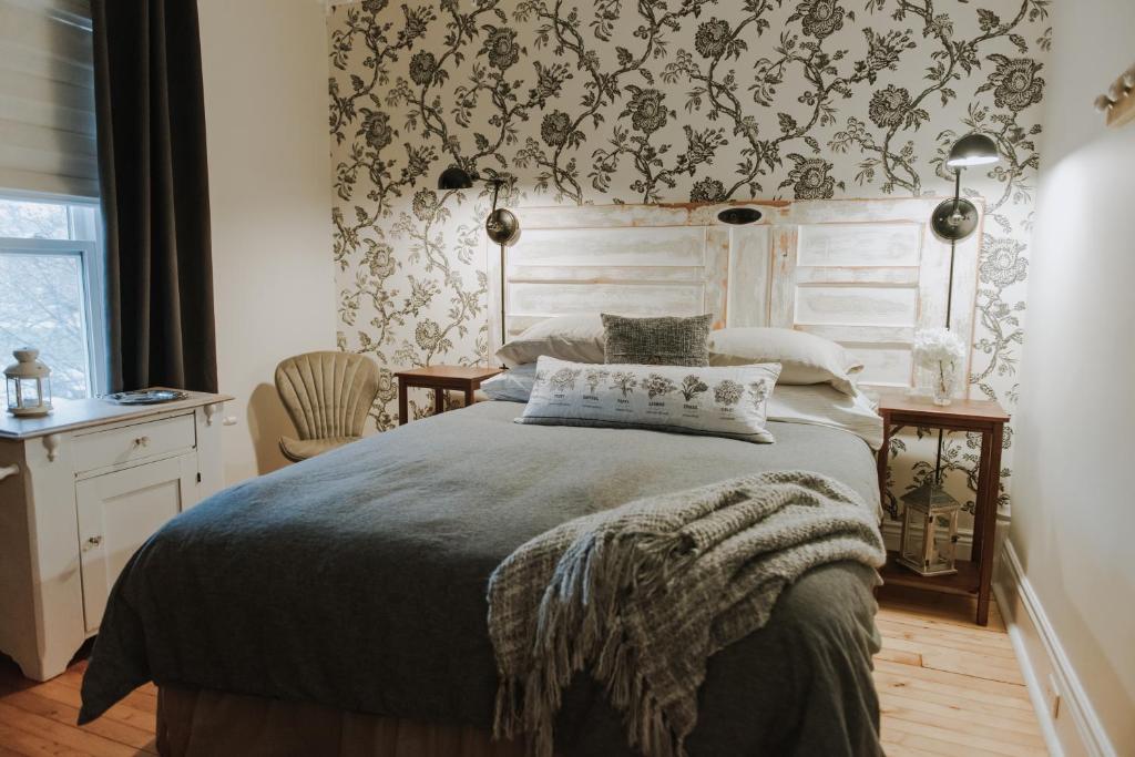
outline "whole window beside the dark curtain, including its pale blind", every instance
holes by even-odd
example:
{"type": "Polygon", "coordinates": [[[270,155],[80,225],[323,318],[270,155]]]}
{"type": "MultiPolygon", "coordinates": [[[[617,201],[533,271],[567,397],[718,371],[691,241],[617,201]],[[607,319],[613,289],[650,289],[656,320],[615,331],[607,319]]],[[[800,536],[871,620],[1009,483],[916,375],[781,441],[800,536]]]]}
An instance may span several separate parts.
{"type": "Polygon", "coordinates": [[[0,0],[0,369],[30,345],[53,396],[106,392],[89,0],[0,0]]]}

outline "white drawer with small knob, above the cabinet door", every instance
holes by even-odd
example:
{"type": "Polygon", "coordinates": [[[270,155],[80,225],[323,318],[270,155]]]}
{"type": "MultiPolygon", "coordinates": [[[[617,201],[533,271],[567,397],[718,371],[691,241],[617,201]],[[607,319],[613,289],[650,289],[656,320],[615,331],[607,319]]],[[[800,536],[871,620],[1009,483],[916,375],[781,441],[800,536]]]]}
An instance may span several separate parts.
{"type": "Polygon", "coordinates": [[[192,449],[195,444],[196,428],[193,415],[175,415],[107,431],[83,434],[72,440],[75,473],[192,449]]]}

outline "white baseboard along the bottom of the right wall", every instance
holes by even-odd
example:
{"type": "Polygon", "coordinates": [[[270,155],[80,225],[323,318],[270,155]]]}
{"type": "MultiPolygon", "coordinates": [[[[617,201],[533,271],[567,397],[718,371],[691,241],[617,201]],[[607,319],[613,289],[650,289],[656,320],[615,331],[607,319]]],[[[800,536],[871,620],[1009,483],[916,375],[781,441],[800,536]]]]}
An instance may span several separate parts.
{"type": "Polygon", "coordinates": [[[993,595],[1049,751],[1058,757],[1115,757],[1116,750],[1008,539],[993,577],[993,595]],[[1056,697],[1058,707],[1053,706],[1056,697]]]}

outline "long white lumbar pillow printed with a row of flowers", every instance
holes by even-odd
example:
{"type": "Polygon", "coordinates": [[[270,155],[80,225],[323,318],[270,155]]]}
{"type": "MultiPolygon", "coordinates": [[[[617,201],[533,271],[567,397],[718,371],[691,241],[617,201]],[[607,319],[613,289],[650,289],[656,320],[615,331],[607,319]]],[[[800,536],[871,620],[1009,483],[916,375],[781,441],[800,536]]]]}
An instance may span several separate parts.
{"type": "Polygon", "coordinates": [[[765,429],[775,363],[595,365],[541,356],[518,423],[642,428],[775,441],[765,429]]]}

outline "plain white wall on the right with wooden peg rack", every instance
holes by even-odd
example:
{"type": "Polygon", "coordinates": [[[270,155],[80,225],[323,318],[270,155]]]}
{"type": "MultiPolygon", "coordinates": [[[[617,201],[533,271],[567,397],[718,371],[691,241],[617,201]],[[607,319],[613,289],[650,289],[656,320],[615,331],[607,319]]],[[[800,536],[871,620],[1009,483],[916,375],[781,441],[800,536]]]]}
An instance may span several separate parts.
{"type": "Polygon", "coordinates": [[[1052,3],[1009,539],[1120,755],[1135,755],[1135,125],[1092,108],[1135,2],[1052,3]]]}

